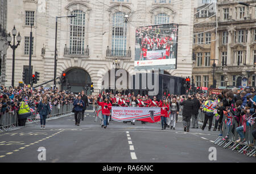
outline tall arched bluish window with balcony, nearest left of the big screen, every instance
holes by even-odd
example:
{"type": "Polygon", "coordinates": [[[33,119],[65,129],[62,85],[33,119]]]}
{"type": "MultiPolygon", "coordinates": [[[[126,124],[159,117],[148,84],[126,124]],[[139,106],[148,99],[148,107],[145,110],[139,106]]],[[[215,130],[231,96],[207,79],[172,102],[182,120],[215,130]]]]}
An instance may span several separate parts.
{"type": "Polygon", "coordinates": [[[113,15],[112,49],[113,56],[126,56],[127,23],[122,12],[113,15]]]}

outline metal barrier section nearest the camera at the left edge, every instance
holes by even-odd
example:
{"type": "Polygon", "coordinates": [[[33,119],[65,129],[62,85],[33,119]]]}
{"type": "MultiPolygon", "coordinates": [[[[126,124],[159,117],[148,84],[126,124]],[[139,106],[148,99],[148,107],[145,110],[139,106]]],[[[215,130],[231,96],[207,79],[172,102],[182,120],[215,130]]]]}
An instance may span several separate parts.
{"type": "Polygon", "coordinates": [[[0,118],[0,131],[8,131],[18,125],[16,113],[5,113],[0,118]]]}

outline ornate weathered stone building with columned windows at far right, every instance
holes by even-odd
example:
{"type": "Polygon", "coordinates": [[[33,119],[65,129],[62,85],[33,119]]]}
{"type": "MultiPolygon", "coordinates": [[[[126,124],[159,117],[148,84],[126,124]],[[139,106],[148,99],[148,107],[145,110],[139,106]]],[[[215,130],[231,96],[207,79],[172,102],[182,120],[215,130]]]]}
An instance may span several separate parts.
{"type": "Polygon", "coordinates": [[[239,2],[251,6],[238,1],[217,2],[217,86],[226,86],[226,78],[228,86],[256,86],[256,1],[239,2]]]}

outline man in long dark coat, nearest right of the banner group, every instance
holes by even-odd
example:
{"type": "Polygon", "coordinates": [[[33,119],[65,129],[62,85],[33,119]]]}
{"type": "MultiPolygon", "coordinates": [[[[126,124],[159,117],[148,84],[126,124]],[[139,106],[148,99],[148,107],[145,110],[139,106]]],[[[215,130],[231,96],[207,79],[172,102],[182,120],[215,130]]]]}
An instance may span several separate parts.
{"type": "Polygon", "coordinates": [[[181,102],[180,105],[183,105],[182,116],[184,131],[189,132],[191,113],[194,109],[194,103],[191,99],[191,96],[189,95],[188,99],[181,102]]]}

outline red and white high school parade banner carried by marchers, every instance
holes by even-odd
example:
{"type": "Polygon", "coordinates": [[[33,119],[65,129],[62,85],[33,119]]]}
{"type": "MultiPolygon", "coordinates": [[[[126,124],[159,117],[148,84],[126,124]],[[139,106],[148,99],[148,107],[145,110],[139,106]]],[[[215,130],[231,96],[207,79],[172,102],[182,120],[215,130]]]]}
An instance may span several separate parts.
{"type": "Polygon", "coordinates": [[[112,106],[114,121],[139,121],[155,123],[160,121],[160,107],[117,107],[112,106]]]}

